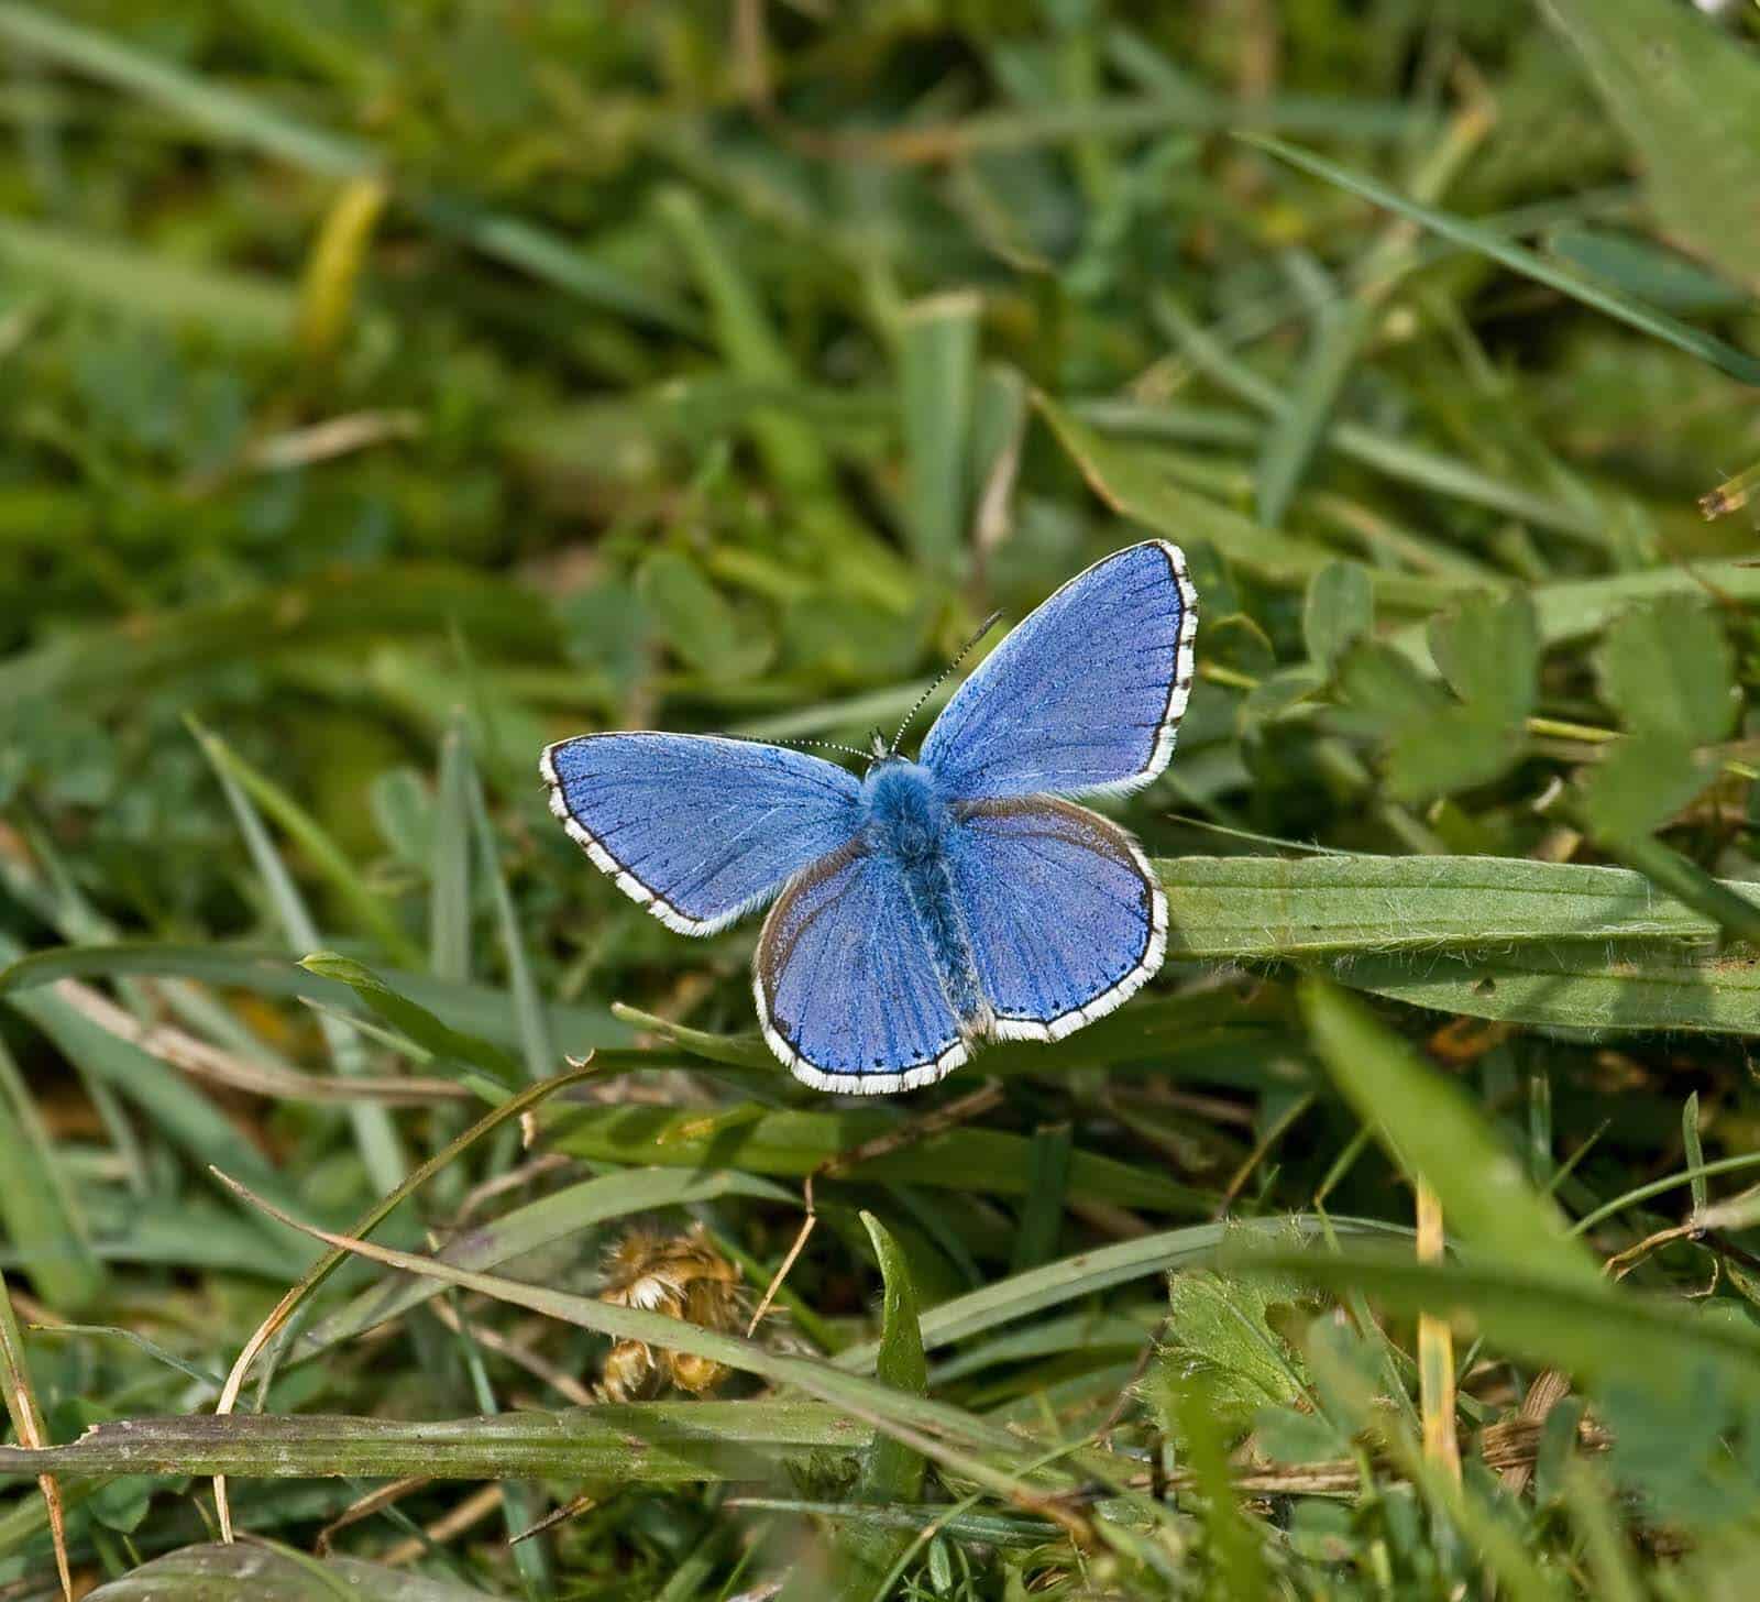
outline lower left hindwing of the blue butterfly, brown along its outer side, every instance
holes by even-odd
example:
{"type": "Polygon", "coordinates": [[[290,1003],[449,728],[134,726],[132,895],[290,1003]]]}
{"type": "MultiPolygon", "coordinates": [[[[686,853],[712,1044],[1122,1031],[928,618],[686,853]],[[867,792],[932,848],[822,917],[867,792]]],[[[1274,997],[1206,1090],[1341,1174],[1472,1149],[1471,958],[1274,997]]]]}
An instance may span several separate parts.
{"type": "Polygon", "coordinates": [[[915,1090],[968,1055],[898,863],[861,841],[776,898],[753,995],[771,1049],[818,1090],[915,1090]]]}

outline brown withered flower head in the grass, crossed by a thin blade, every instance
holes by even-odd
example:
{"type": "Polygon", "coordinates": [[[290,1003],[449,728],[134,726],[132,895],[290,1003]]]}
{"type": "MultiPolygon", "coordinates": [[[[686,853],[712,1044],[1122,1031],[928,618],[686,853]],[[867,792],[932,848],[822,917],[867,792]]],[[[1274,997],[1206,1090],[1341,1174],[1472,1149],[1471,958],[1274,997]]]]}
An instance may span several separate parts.
{"type": "MultiPolygon", "coordinates": [[[[685,1234],[628,1231],[605,1253],[604,1276],[598,1299],[612,1306],[665,1313],[720,1334],[744,1327],[739,1268],[715,1250],[700,1224],[685,1234]]],[[[672,1387],[702,1396],[723,1378],[722,1363],[621,1340],[605,1354],[598,1394],[605,1401],[648,1401],[672,1387]]]]}

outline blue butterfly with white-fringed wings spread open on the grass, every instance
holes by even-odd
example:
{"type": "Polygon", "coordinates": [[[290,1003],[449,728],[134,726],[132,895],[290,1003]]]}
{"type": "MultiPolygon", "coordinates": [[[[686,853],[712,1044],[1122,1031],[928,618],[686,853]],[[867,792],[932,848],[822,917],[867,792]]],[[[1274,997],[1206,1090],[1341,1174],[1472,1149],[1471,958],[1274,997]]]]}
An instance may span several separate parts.
{"type": "Polygon", "coordinates": [[[1167,766],[1195,632],[1179,547],[1146,540],[1010,632],[915,762],[880,736],[857,780],[757,741],[586,734],[544,752],[551,812],[683,935],[774,898],[753,959],[771,1049],[818,1090],[915,1090],[984,1040],[1061,1040],[1162,966],[1142,849],[1061,797],[1167,766]]]}

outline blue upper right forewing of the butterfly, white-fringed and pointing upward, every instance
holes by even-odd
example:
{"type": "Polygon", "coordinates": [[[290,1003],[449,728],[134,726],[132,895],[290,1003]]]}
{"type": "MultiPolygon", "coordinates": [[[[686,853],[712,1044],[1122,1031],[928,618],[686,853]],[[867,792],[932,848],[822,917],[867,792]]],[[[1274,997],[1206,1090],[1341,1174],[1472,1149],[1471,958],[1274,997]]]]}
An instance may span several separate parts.
{"type": "Polygon", "coordinates": [[[954,799],[1139,789],[1174,753],[1195,634],[1179,547],[1114,551],[991,651],[935,720],[920,761],[954,799]]]}

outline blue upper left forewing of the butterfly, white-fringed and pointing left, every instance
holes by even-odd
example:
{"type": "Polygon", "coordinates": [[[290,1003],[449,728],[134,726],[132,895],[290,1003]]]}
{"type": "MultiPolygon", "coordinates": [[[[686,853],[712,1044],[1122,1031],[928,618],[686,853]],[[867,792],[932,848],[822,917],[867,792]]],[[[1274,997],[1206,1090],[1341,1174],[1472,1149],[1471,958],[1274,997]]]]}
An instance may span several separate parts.
{"type": "Polygon", "coordinates": [[[685,935],[767,901],[859,827],[854,775],[702,734],[584,734],[544,752],[551,812],[618,889],[685,935]]]}

